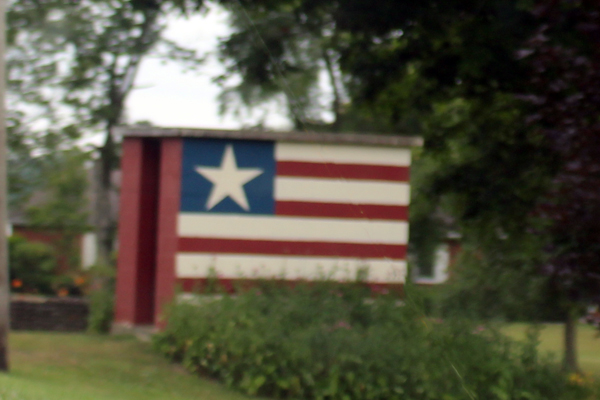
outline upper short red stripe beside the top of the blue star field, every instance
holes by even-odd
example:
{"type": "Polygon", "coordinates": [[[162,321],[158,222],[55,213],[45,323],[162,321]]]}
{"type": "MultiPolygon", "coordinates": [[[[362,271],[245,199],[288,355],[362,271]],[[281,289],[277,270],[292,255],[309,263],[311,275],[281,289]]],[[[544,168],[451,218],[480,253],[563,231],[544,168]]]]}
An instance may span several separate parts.
{"type": "Polygon", "coordinates": [[[409,167],[390,165],[332,164],[297,161],[277,162],[277,176],[408,182],[409,175],[409,167]]]}

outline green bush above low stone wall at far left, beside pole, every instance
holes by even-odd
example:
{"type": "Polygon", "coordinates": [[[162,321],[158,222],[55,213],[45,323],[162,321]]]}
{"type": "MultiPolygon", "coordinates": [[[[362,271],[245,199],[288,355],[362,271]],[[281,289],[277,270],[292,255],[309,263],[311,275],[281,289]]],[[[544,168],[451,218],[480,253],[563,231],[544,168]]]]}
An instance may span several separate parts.
{"type": "Polygon", "coordinates": [[[26,293],[53,294],[56,253],[38,242],[13,235],[8,238],[9,268],[12,290],[26,293]]]}

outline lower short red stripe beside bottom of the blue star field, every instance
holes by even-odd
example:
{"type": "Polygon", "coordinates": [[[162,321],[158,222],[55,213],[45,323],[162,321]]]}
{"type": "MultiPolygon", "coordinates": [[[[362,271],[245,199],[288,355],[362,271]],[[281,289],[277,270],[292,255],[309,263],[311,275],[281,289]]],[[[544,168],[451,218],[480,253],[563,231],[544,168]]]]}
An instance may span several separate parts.
{"type": "Polygon", "coordinates": [[[407,206],[382,206],[376,204],[307,203],[303,201],[277,201],[276,215],[302,217],[365,218],[408,220],[407,206]]]}

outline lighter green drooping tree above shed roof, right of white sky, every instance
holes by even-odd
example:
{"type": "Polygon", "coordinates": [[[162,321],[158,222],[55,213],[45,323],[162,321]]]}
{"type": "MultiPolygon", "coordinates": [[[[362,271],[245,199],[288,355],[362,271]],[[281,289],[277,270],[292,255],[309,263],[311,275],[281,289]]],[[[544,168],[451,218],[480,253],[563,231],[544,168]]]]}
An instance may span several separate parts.
{"type": "Polygon", "coordinates": [[[230,10],[234,33],[219,46],[226,73],[217,81],[223,86],[223,111],[240,103],[256,108],[283,95],[294,128],[329,130],[342,128],[346,90],[339,60],[343,37],[333,20],[333,4],[307,7],[304,2],[270,3],[222,1],[230,10]],[[319,74],[324,71],[329,80],[332,98],[321,104],[319,74]],[[229,78],[241,81],[228,86],[229,78]],[[323,111],[334,116],[325,124],[323,111]]]}

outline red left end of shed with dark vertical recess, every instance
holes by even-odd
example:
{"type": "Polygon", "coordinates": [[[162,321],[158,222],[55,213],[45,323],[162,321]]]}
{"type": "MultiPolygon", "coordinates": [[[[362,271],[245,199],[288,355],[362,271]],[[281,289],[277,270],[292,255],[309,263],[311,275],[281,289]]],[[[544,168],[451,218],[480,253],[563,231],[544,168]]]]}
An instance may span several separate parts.
{"type": "Polygon", "coordinates": [[[115,324],[154,323],[160,141],[125,138],[115,324]]]}

